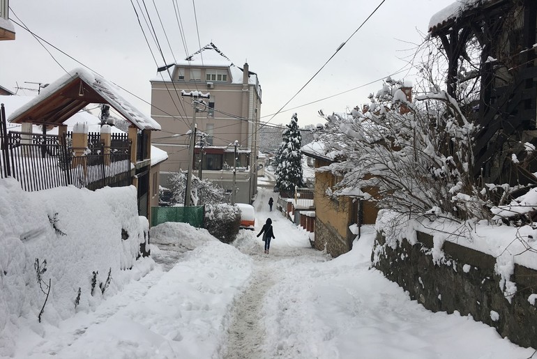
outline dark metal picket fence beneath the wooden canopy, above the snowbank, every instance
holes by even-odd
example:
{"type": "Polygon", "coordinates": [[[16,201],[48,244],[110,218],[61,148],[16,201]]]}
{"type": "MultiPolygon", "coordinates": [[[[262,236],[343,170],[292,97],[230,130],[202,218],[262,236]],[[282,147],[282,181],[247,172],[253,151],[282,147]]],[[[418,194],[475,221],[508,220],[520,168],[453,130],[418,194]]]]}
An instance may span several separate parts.
{"type": "Polygon", "coordinates": [[[73,148],[70,134],[61,138],[7,132],[2,105],[0,177],[13,176],[27,191],[64,185],[90,190],[130,185],[130,142],[127,137],[116,136],[114,146],[105,147],[97,135],[89,136],[86,148],[73,148]]]}

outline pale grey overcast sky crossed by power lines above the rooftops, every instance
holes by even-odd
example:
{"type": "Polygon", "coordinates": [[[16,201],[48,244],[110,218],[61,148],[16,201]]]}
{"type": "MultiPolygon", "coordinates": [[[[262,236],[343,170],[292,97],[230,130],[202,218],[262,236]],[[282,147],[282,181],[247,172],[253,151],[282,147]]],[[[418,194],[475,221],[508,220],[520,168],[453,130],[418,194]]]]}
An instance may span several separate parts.
{"type": "MultiPolygon", "coordinates": [[[[262,120],[289,123],[293,112],[298,123],[322,122],[325,113],[343,112],[367,102],[381,82],[349,91],[344,95],[299,107],[337,93],[354,89],[400,70],[411,54],[412,43],[421,43],[430,18],[454,0],[386,0],[349,42],[334,56],[319,75],[285,107],[289,111],[273,114],[308,82],[332,56],[335,49],[372,13],[381,0],[255,1],[255,0],[153,0],[145,1],[156,29],[165,60],[158,52],[144,19],[142,25],[158,66],[165,61],[184,59],[199,45],[211,41],[237,66],[248,61],[257,72],[263,89],[262,120]],[[174,3],[183,24],[179,31],[174,3]],[[195,6],[193,5],[195,4],[195,6]],[[173,50],[167,45],[155,5],[173,50]],[[197,26],[195,21],[195,12],[197,26]],[[199,38],[198,38],[199,33],[199,38]],[[186,43],[183,46],[183,40],[186,43]],[[298,107],[292,109],[293,107],[298,107]]],[[[142,0],[133,0],[139,15],[142,0]]],[[[12,0],[10,18],[24,22],[41,38],[49,41],[107,79],[151,102],[151,84],[157,65],[153,60],[130,0],[12,0]],[[16,16],[15,16],[16,15],[16,16]],[[20,20],[17,20],[17,17],[20,20]]],[[[53,82],[65,74],[45,49],[26,30],[15,24],[15,41],[3,41],[0,85],[15,91],[37,85],[24,82],[53,82]]],[[[66,70],[80,67],[75,61],[48,45],[54,58],[66,70]]],[[[414,71],[394,78],[413,79],[414,71]]],[[[34,92],[19,90],[20,95],[34,92]]],[[[142,112],[150,107],[128,98],[142,112]]]]}

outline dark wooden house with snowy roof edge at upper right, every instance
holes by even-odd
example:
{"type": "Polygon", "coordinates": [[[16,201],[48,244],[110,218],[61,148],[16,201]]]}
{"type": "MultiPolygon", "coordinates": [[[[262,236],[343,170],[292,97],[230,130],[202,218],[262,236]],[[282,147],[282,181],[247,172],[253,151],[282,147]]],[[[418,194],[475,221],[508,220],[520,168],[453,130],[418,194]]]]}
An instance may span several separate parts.
{"type": "Polygon", "coordinates": [[[448,59],[448,93],[457,98],[469,81],[476,82],[473,171],[483,183],[535,182],[537,162],[524,144],[537,144],[536,19],[534,0],[468,0],[430,20],[430,36],[441,40],[448,59]],[[478,55],[475,70],[461,77],[461,63],[471,54],[478,55]],[[518,165],[513,155],[529,163],[518,165]]]}

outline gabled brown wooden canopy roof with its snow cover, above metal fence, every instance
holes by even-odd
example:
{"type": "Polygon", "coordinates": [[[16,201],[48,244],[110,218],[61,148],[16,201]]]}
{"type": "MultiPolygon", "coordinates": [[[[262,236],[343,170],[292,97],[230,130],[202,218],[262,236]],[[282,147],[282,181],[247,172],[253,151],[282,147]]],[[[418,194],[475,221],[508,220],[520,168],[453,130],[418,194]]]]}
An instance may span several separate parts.
{"type": "Polygon", "coordinates": [[[140,130],[160,130],[151,117],[142,114],[124,100],[115,86],[93,72],[73,70],[10,116],[12,123],[60,125],[91,103],[108,104],[140,130]]]}

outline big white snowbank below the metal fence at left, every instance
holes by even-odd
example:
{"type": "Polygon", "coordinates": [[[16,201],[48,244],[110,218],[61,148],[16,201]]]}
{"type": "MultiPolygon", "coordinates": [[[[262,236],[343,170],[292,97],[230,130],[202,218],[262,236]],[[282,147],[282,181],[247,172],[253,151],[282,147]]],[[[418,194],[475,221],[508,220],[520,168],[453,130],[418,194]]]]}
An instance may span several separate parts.
{"type": "Polygon", "coordinates": [[[24,192],[7,178],[0,192],[0,355],[13,354],[17,327],[42,335],[154,264],[135,261],[144,228],[134,187],[24,192]]]}

